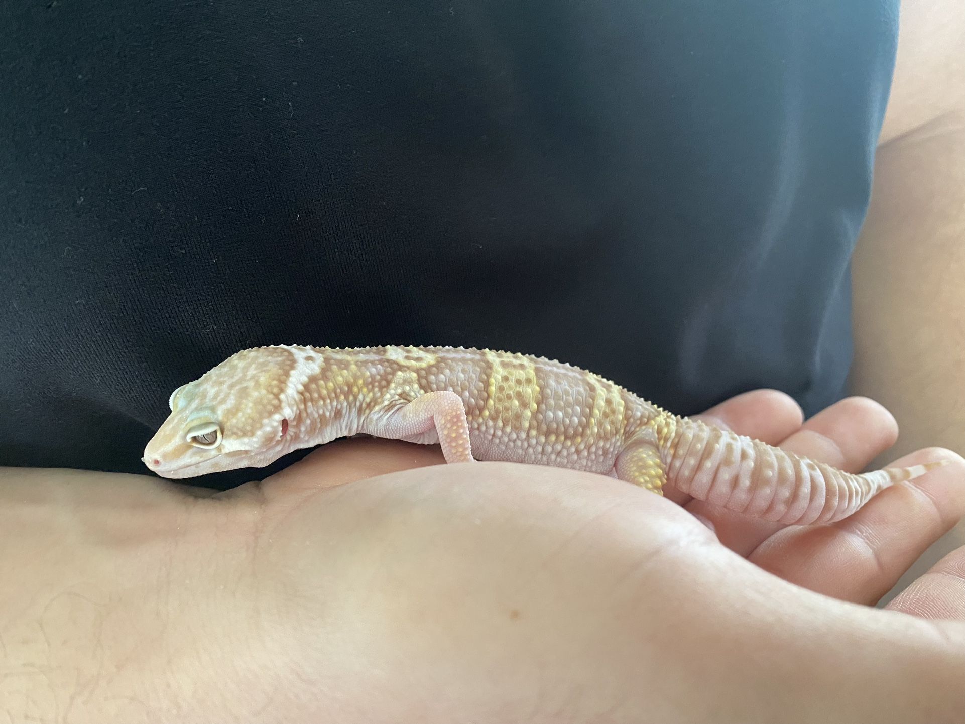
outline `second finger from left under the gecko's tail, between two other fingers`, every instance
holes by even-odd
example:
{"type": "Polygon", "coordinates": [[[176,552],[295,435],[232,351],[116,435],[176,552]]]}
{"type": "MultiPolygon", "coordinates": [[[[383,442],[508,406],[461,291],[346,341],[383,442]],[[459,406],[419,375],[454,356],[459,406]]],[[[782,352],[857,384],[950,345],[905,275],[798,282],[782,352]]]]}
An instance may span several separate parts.
{"type": "MultiPolygon", "coordinates": [[[[887,409],[868,398],[849,397],[818,412],[778,446],[847,472],[859,472],[894,445],[896,439],[897,424],[887,409]]],[[[750,554],[786,527],[701,500],[693,501],[687,510],[709,519],[721,543],[741,555],[750,554]]]]}

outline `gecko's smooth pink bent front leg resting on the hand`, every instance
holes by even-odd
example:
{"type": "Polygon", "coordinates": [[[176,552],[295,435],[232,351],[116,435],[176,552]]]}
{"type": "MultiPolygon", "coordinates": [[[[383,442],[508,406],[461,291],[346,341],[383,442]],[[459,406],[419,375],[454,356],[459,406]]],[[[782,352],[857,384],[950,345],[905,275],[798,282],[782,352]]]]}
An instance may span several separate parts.
{"type": "Polygon", "coordinates": [[[427,392],[387,413],[371,432],[394,440],[411,440],[435,429],[446,462],[472,462],[469,424],[462,398],[443,390],[427,392]]]}

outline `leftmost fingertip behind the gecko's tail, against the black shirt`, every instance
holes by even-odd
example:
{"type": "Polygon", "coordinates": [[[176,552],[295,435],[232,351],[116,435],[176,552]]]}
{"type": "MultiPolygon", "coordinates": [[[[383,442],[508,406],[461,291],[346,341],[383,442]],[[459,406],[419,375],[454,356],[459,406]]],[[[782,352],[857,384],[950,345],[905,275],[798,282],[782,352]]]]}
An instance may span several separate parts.
{"type": "MultiPolygon", "coordinates": [[[[735,395],[692,417],[707,425],[777,445],[801,427],[804,412],[790,395],[779,390],[760,389],[735,395]]],[[[693,500],[692,496],[675,487],[667,487],[665,494],[679,505],[693,500]]]]}

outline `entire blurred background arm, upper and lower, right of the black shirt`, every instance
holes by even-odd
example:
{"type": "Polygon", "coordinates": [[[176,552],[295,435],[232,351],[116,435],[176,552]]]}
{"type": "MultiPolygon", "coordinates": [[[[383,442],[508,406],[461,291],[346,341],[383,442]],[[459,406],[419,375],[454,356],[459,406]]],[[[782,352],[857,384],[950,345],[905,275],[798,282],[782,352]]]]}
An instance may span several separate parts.
{"type": "MultiPolygon", "coordinates": [[[[893,457],[965,453],[965,3],[902,0],[895,78],[852,258],[850,391],[901,426],[893,457]]],[[[887,458],[874,460],[872,467],[887,458]]],[[[924,554],[908,585],[965,544],[965,524],[924,554]]]]}

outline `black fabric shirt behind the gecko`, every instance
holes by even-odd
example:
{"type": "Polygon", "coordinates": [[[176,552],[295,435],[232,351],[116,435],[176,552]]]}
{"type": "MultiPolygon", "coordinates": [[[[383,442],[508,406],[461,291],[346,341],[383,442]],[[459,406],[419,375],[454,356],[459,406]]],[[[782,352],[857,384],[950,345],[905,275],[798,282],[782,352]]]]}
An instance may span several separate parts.
{"type": "Polygon", "coordinates": [[[0,8],[0,464],[146,472],[266,344],[843,393],[897,0],[0,8]]]}

